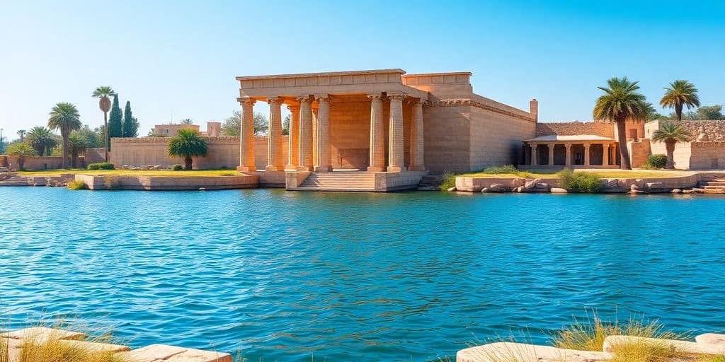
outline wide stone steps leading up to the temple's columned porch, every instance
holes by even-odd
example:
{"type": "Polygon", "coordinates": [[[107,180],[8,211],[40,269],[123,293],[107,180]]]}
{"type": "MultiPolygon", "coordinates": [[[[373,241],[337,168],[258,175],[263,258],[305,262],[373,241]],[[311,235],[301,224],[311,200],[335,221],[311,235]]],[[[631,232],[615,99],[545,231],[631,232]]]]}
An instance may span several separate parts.
{"type": "Polygon", "coordinates": [[[296,191],[375,191],[372,172],[312,172],[296,191]]]}

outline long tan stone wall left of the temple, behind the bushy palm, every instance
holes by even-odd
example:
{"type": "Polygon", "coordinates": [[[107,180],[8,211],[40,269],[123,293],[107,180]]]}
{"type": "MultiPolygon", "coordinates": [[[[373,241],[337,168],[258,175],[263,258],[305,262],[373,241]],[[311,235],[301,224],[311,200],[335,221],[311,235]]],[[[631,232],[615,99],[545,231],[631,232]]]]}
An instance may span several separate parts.
{"type": "MultiPolygon", "coordinates": [[[[117,167],[157,165],[168,167],[172,164],[183,164],[182,159],[168,156],[167,144],[171,138],[112,138],[110,161],[117,167]]],[[[207,140],[207,156],[194,159],[194,169],[235,169],[239,165],[239,137],[225,136],[205,138],[207,140]]],[[[287,164],[287,136],[282,137],[283,161],[287,164]]],[[[267,137],[254,137],[254,158],[257,169],[267,165],[267,137]]]]}

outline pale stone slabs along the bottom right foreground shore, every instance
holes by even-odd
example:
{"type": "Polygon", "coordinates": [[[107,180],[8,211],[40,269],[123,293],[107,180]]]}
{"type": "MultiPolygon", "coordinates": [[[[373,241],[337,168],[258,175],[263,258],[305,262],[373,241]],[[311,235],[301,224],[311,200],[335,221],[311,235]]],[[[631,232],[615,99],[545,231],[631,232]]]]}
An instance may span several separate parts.
{"type": "Polygon", "coordinates": [[[629,343],[657,343],[672,350],[692,355],[725,355],[725,334],[700,334],[695,342],[662,340],[633,336],[605,338],[602,352],[567,350],[544,345],[496,342],[459,350],[456,362],[603,362],[613,357],[616,345],[629,343]]]}

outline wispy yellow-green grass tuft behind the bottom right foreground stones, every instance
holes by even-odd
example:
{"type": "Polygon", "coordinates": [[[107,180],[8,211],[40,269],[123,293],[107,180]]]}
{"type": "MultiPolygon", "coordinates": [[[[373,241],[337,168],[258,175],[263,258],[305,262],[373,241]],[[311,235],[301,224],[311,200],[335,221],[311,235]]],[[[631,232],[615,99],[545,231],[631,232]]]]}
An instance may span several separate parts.
{"type": "Polygon", "coordinates": [[[647,320],[643,317],[631,316],[626,324],[619,321],[602,321],[596,313],[587,316],[587,320],[574,323],[557,332],[552,340],[555,347],[571,350],[601,351],[604,340],[612,335],[628,335],[634,337],[660,338],[666,340],[684,340],[687,334],[676,333],[665,329],[657,320],[647,320]]]}

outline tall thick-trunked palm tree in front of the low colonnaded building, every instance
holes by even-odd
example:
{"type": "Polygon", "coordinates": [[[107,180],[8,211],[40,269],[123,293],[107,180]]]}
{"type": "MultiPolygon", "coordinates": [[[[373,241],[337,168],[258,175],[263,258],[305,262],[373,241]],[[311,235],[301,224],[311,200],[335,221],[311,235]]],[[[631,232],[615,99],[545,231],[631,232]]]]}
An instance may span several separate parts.
{"type": "Polygon", "coordinates": [[[605,94],[597,98],[594,106],[594,117],[617,125],[617,142],[619,143],[619,167],[631,169],[629,151],[627,150],[626,122],[642,122],[650,115],[650,106],[645,96],[637,93],[639,82],[631,82],[627,77],[613,77],[607,81],[608,87],[597,87],[605,94]]]}

